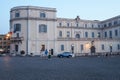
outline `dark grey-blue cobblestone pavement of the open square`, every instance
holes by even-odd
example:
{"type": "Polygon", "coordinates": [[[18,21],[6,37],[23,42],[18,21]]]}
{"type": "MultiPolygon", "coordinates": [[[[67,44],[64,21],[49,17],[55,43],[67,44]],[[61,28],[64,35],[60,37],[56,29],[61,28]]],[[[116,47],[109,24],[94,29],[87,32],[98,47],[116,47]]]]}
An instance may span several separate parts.
{"type": "Polygon", "coordinates": [[[120,80],[120,56],[0,57],[0,80],[120,80]]]}

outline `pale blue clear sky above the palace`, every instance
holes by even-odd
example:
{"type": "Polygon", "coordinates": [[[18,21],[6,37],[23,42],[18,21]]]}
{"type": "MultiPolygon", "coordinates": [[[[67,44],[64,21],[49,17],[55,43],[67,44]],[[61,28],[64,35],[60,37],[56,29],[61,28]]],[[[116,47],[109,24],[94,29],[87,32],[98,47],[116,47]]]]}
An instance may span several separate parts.
{"type": "Polygon", "coordinates": [[[0,34],[9,32],[9,11],[15,6],[56,8],[57,17],[105,20],[120,15],[120,0],[1,0],[0,34]]]}

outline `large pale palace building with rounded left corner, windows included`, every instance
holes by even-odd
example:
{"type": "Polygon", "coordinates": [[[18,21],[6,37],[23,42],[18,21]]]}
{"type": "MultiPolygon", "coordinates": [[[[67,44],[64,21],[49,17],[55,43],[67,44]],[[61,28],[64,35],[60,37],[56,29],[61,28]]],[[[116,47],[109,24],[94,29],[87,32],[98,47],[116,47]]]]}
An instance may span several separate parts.
{"type": "Polygon", "coordinates": [[[10,52],[76,56],[120,52],[120,16],[103,21],[58,18],[56,8],[17,6],[10,11],[10,52]]]}

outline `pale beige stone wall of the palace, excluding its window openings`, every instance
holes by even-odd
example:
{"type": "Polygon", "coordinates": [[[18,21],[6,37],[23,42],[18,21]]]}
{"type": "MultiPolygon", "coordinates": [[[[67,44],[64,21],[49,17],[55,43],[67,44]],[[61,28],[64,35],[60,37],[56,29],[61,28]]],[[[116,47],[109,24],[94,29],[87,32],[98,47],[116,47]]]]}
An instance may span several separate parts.
{"type": "Polygon", "coordinates": [[[117,45],[120,44],[120,40],[118,39],[120,38],[120,26],[103,29],[98,26],[101,25],[100,27],[102,27],[105,23],[119,20],[116,18],[103,22],[82,19],[76,21],[76,19],[56,18],[55,8],[32,6],[12,8],[10,15],[10,31],[14,31],[14,24],[21,24],[21,32],[13,33],[12,37],[16,37],[17,33],[19,33],[19,36],[24,38],[21,44],[11,44],[11,51],[15,49],[15,45],[18,45],[18,53],[21,50],[27,52],[28,48],[27,54],[34,53],[35,55],[40,55],[42,45],[45,45],[45,49],[54,49],[54,55],[57,55],[64,51],[71,52],[71,45],[73,45],[75,54],[91,54],[90,46],[92,40],[95,41],[96,52],[110,52],[109,46],[111,44],[113,52],[119,51],[117,45]],[[19,18],[14,17],[16,12],[20,12],[19,18]],[[40,13],[42,12],[46,14],[45,18],[40,18],[40,13]],[[60,26],[59,23],[61,23],[62,26],[60,26]],[[67,26],[68,23],[69,26],[67,26]],[[41,24],[47,25],[47,33],[39,32],[39,25],[41,24]],[[77,24],[78,27],[76,26],[77,24]],[[118,30],[119,35],[117,37],[114,35],[115,29],[118,30]],[[113,31],[113,39],[104,39],[104,32],[110,30],[113,31]],[[59,31],[62,31],[62,37],[59,36],[59,31]],[[70,32],[70,38],[67,38],[67,31],[70,32]],[[85,32],[88,32],[88,38],[85,38],[85,32]],[[92,32],[94,32],[95,38],[92,38],[92,32]],[[101,33],[100,39],[97,35],[98,32],[101,33]],[[76,34],[80,34],[80,39],[76,39],[76,34]],[[102,44],[105,46],[104,50],[101,49],[102,44]],[[64,45],[63,51],[61,51],[61,45],[64,45]],[[83,51],[81,51],[80,45],[83,45],[83,51]]]}

